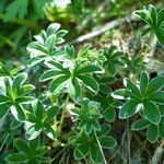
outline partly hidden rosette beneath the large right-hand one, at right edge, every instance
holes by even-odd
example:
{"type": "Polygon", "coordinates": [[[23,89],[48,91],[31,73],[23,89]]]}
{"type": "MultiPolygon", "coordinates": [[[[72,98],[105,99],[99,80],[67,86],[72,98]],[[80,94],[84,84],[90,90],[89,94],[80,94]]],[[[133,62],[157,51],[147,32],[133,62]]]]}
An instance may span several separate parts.
{"type": "Polygon", "coordinates": [[[150,122],[148,119],[142,117],[141,119],[137,120],[132,125],[132,130],[147,130],[147,139],[154,143],[159,138],[164,139],[164,105],[160,105],[159,107],[161,113],[161,122],[159,125],[154,125],[150,122]]]}

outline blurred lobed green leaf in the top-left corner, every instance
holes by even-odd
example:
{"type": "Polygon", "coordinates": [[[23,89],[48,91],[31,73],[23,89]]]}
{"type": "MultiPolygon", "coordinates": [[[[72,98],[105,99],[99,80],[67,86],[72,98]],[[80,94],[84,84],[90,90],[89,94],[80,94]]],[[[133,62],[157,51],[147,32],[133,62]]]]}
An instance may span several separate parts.
{"type": "Polygon", "coordinates": [[[27,14],[28,0],[14,0],[7,8],[4,22],[14,21],[16,17],[24,19],[27,14]]]}

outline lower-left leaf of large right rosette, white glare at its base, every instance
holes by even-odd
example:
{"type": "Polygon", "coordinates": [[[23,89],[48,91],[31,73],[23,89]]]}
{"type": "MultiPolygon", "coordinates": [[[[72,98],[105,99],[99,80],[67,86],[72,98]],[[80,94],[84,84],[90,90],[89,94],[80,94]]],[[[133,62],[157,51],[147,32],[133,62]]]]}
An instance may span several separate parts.
{"type": "Polygon", "coordinates": [[[122,107],[120,108],[119,118],[120,119],[129,118],[136,113],[138,113],[140,109],[141,109],[141,105],[138,102],[131,99],[126,104],[124,104],[122,107]]]}

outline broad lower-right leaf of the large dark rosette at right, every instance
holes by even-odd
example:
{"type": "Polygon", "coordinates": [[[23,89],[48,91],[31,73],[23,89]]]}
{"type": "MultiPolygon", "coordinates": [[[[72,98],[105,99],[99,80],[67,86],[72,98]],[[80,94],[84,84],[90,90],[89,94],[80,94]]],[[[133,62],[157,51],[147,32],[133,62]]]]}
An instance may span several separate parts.
{"type": "Polygon", "coordinates": [[[157,106],[151,102],[143,102],[143,114],[145,118],[154,125],[161,121],[161,114],[157,106]]]}

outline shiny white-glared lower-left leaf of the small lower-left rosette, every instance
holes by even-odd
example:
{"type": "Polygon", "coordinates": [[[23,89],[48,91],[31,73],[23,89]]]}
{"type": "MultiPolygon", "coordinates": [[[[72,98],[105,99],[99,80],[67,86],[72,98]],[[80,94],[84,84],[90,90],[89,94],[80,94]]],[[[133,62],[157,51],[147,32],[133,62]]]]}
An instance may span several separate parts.
{"type": "Polygon", "coordinates": [[[27,140],[34,140],[42,131],[42,127],[39,125],[33,125],[26,130],[25,138],[27,140]]]}

